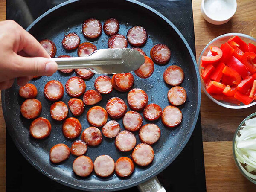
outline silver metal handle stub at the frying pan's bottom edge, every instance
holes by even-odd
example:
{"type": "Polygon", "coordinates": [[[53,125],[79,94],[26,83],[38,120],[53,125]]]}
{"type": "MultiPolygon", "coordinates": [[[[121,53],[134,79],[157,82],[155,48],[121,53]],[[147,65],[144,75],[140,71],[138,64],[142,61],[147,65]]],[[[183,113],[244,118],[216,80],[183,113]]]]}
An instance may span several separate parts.
{"type": "Polygon", "coordinates": [[[157,179],[157,176],[147,180],[145,183],[138,185],[138,189],[140,192],[166,192],[157,179]]]}

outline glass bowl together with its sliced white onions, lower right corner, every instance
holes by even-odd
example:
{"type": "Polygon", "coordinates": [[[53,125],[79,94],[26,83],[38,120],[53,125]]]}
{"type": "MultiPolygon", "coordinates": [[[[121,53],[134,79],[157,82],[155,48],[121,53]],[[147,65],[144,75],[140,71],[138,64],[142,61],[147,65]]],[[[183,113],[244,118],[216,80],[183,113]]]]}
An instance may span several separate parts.
{"type": "Polygon", "coordinates": [[[247,116],[236,130],[233,157],[244,177],[256,184],[256,112],[247,116]]]}

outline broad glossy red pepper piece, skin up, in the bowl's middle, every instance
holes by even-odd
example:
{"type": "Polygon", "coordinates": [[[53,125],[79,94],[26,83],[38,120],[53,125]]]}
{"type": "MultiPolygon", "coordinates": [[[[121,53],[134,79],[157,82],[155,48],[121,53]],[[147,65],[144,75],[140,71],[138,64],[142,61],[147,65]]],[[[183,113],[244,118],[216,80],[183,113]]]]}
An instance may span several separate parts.
{"type": "Polygon", "coordinates": [[[246,67],[244,64],[241,63],[237,58],[235,58],[233,55],[226,61],[225,63],[228,67],[231,67],[233,70],[235,70],[239,75],[242,76],[242,78],[245,78],[250,75],[249,68],[246,67]]]}

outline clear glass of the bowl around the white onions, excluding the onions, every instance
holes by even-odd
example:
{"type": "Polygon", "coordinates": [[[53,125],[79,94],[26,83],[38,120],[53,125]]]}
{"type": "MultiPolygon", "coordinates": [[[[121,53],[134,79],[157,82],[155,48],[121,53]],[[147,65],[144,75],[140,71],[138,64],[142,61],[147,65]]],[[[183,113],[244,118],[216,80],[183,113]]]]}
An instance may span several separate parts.
{"type": "MultiPolygon", "coordinates": [[[[233,157],[234,157],[234,160],[235,160],[235,162],[236,162],[236,166],[238,167],[239,171],[244,175],[244,177],[246,177],[248,180],[250,180],[250,182],[256,184],[256,180],[254,180],[254,179],[248,177],[248,176],[244,173],[243,169],[241,168],[241,163],[236,159],[237,157],[236,157],[236,154],[235,154],[236,136],[238,135],[238,136],[240,137],[239,131],[240,131],[240,129],[241,129],[241,126],[244,126],[244,125],[245,125],[244,122],[247,121],[248,119],[253,118],[253,117],[256,117],[256,112],[253,113],[253,114],[250,114],[249,116],[247,116],[247,117],[241,122],[241,124],[238,126],[238,128],[237,128],[237,130],[236,130],[236,133],[235,133],[235,135],[234,135],[234,137],[233,137],[232,149],[233,149],[233,157]]],[[[256,174],[253,174],[253,175],[256,175],[256,174]]]]}

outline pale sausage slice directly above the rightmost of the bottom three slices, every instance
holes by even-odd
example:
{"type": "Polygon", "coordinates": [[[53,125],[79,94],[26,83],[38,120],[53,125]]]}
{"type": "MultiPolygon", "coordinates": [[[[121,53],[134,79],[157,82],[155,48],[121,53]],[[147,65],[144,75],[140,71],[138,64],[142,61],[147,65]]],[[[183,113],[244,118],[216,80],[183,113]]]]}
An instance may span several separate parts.
{"type": "Polygon", "coordinates": [[[121,131],[116,136],[115,145],[120,151],[131,151],[136,145],[136,137],[130,131],[121,131]]]}

